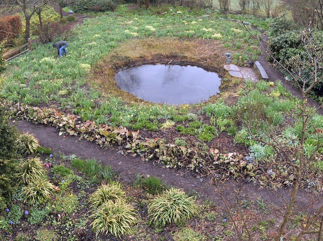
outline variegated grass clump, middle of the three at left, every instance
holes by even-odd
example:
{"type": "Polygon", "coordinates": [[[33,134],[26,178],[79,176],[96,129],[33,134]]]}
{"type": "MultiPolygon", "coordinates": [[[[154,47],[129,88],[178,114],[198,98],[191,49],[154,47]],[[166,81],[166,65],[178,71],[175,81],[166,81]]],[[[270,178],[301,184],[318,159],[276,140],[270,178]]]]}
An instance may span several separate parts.
{"type": "Polygon", "coordinates": [[[46,171],[43,168],[43,162],[38,157],[28,159],[25,162],[18,164],[15,170],[18,185],[20,183],[29,184],[43,180],[46,174],[46,171]]]}

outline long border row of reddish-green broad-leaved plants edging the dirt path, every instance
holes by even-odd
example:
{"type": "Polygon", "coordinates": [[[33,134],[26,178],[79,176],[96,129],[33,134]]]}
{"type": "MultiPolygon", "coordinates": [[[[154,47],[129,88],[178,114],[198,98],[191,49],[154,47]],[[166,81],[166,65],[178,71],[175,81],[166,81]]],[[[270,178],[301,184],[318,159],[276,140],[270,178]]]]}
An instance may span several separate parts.
{"type": "MultiPolygon", "coordinates": [[[[63,114],[55,109],[40,109],[29,107],[26,104],[16,104],[16,116],[34,123],[52,125],[59,129],[59,134],[69,133],[80,138],[94,141],[101,147],[112,144],[123,146],[126,152],[137,153],[148,159],[161,162],[166,167],[181,168],[186,167],[201,175],[211,175],[215,180],[223,180],[229,177],[244,178],[248,181],[258,181],[261,185],[269,187],[279,187],[281,184],[291,185],[293,182],[292,173],[288,169],[278,167],[275,175],[268,175],[264,164],[252,157],[243,157],[238,153],[219,153],[217,149],[211,148],[203,158],[198,150],[184,146],[177,146],[172,143],[164,143],[160,138],[141,140],[138,138],[139,131],[128,131],[124,127],[113,127],[108,125],[99,126],[95,121],[81,121],[73,114],[63,114]]],[[[13,109],[13,110],[14,110],[13,109]]],[[[269,169],[268,169],[269,170],[269,169]]],[[[304,180],[304,184],[307,181],[304,180]]],[[[319,188],[315,185],[313,190],[319,188]]]]}

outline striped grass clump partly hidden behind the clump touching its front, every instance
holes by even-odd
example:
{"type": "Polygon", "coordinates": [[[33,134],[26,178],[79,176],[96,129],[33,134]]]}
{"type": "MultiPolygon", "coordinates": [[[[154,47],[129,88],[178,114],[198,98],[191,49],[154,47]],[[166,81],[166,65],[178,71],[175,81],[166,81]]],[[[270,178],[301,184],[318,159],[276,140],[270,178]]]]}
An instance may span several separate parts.
{"type": "Polygon", "coordinates": [[[90,195],[89,201],[92,208],[99,208],[107,201],[112,203],[126,203],[126,194],[122,190],[121,184],[118,182],[111,182],[102,184],[97,191],[90,195]]]}

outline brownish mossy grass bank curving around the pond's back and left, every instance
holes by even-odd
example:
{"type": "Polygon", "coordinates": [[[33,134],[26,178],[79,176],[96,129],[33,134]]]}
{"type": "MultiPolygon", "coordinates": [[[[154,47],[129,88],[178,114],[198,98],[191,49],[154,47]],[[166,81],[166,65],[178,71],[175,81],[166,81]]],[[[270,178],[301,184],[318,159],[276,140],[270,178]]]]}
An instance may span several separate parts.
{"type": "Polygon", "coordinates": [[[133,39],[122,43],[95,66],[91,79],[106,94],[130,103],[142,100],[120,90],[114,75],[117,70],[134,65],[160,63],[195,65],[224,76],[226,61],[219,40],[181,39],[175,37],[133,39]]]}

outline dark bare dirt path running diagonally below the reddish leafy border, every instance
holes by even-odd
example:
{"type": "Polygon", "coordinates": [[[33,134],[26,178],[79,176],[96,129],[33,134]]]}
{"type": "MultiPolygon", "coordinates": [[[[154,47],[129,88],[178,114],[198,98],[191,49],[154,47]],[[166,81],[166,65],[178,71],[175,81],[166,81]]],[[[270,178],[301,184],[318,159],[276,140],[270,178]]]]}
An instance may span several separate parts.
{"type": "MultiPolygon", "coordinates": [[[[238,183],[235,180],[229,179],[224,183],[217,185],[210,184],[210,180],[203,181],[193,177],[189,171],[177,171],[174,169],[166,169],[162,166],[153,165],[152,161],[142,160],[141,157],[124,156],[119,153],[116,147],[100,148],[99,145],[86,140],[78,140],[76,136],[59,136],[57,129],[45,125],[34,125],[26,121],[18,121],[17,129],[22,132],[33,133],[40,140],[40,144],[44,147],[51,148],[54,153],[63,153],[64,155],[75,154],[83,159],[94,158],[97,161],[112,166],[118,170],[120,181],[129,185],[135,179],[135,175],[150,175],[161,178],[168,185],[176,188],[182,188],[185,192],[192,190],[214,201],[216,206],[223,206],[223,201],[217,192],[221,190],[225,198],[231,203],[234,203],[240,189],[239,196],[255,200],[261,197],[266,204],[275,208],[275,216],[279,216],[285,208],[284,201],[279,198],[284,197],[289,199],[290,189],[280,188],[278,192],[260,188],[257,184],[238,183]]],[[[304,208],[312,201],[319,204],[318,196],[306,193],[304,189],[299,191],[297,204],[304,208]]],[[[274,215],[274,214],[272,214],[274,215]]]]}

